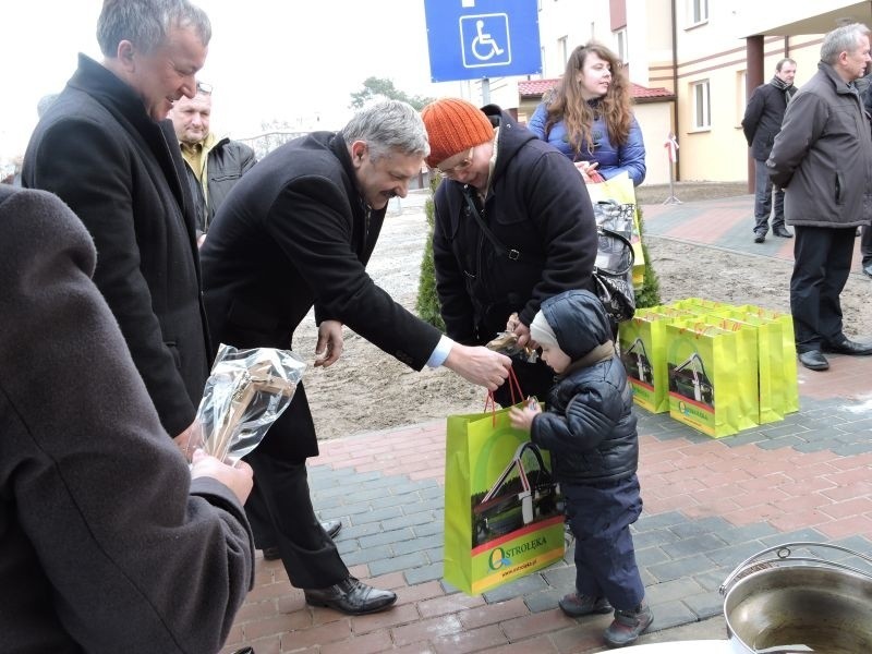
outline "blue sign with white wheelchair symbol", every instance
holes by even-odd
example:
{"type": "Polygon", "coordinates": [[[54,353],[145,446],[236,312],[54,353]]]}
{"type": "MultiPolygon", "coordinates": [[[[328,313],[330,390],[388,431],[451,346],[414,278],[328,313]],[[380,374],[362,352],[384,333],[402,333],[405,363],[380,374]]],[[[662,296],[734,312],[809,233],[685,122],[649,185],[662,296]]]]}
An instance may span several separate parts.
{"type": "Polygon", "coordinates": [[[542,72],[536,0],[424,0],[431,80],[542,72]]]}

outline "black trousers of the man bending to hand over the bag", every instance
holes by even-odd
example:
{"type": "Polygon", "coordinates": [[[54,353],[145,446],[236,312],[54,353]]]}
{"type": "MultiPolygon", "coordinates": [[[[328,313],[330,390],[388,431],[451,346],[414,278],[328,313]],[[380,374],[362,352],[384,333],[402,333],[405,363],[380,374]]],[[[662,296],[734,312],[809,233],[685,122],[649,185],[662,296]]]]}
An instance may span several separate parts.
{"type": "Polygon", "coordinates": [[[346,579],[348,568],[312,507],[305,461],[283,461],[257,449],[245,461],[254,470],[245,513],[257,547],[279,548],[298,589],[323,589],[346,579]]]}

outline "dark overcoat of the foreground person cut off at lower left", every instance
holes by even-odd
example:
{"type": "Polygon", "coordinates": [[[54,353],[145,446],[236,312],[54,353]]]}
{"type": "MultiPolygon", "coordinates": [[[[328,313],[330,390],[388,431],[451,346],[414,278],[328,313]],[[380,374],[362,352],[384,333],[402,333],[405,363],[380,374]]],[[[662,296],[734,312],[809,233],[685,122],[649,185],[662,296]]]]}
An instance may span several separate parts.
{"type": "Polygon", "coordinates": [[[0,185],[0,652],[221,649],[254,581],[237,497],[191,480],[50,193],[0,185]]]}

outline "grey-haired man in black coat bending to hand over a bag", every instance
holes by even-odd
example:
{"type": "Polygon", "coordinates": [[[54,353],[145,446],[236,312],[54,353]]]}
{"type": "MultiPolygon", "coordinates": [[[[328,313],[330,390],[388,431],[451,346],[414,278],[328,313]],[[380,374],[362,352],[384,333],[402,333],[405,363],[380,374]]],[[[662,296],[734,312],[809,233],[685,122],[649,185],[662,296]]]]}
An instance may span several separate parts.
{"type": "MultiPolygon", "coordinates": [[[[348,325],[412,368],[445,365],[492,390],[501,385],[507,356],[455,343],[397,304],[365,270],[388,201],[405,195],[428,153],[417,111],[387,101],[362,110],[338,133],[315,132],[262,159],[218,209],[201,252],[215,342],[290,348],[314,305],[315,365],[339,359],[348,325]]],[[[351,577],[315,517],[305,461],[317,453],[300,385],[246,457],[291,583],[313,605],[348,614],[387,608],[396,594],[351,577]]]]}

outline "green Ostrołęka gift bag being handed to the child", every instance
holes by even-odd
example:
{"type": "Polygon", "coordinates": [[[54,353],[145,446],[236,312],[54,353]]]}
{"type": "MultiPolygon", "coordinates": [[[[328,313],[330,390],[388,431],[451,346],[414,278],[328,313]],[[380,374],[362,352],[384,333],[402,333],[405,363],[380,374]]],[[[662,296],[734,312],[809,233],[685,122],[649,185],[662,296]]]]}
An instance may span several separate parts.
{"type": "Polygon", "coordinates": [[[547,452],[511,426],[509,409],[449,415],[446,581],[477,595],[562,556],[562,500],[547,452]]]}

